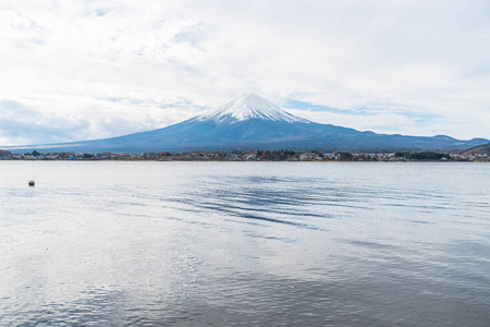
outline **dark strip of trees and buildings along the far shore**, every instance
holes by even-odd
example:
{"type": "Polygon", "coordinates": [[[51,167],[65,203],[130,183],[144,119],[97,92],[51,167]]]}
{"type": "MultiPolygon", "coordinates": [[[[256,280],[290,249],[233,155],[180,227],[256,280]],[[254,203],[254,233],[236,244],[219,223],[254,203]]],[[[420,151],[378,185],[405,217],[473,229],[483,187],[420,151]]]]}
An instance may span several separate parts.
{"type": "Polygon", "coordinates": [[[0,160],[152,160],[152,161],[490,161],[487,154],[438,152],[352,153],[320,150],[233,150],[161,153],[32,153],[12,154],[0,149],[0,160]]]}

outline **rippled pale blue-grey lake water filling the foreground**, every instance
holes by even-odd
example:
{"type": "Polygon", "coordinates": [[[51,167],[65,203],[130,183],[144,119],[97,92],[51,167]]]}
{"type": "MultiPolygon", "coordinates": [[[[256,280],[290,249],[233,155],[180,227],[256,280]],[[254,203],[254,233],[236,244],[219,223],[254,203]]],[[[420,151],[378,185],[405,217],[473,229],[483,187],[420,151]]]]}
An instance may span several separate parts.
{"type": "Polygon", "coordinates": [[[0,161],[0,326],[489,326],[489,185],[486,164],[0,161]]]}

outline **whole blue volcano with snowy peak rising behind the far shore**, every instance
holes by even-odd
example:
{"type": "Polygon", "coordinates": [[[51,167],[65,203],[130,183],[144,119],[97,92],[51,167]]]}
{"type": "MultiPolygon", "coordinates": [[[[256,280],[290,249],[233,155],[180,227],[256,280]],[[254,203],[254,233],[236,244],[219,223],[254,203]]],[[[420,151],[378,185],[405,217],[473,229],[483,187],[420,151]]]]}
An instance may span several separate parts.
{"type": "Polygon", "coordinates": [[[233,149],[455,150],[489,143],[445,135],[403,136],[359,132],[293,116],[266,99],[243,95],[222,107],[163,129],[119,137],[26,146],[57,152],[180,152],[233,149]]]}

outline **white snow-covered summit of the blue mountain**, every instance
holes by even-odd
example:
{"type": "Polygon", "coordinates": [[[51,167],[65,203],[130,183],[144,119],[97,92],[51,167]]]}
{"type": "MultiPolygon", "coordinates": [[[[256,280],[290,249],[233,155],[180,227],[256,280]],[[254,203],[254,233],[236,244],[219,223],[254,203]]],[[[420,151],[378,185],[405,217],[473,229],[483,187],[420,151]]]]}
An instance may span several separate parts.
{"type": "Polygon", "coordinates": [[[249,119],[309,123],[308,120],[285,112],[255,94],[244,94],[224,106],[195,118],[196,121],[212,120],[218,124],[231,124],[249,119]]]}

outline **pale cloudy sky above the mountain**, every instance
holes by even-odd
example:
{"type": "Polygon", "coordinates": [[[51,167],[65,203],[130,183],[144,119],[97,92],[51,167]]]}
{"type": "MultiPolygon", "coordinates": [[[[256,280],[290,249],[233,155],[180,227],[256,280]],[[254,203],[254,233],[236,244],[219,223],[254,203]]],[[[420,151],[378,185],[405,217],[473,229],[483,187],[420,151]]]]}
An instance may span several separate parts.
{"type": "Polygon", "coordinates": [[[0,146],[155,130],[247,93],[319,123],[490,138],[490,1],[0,1],[0,146]]]}

